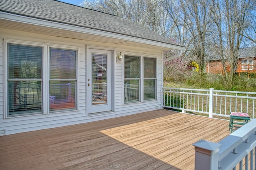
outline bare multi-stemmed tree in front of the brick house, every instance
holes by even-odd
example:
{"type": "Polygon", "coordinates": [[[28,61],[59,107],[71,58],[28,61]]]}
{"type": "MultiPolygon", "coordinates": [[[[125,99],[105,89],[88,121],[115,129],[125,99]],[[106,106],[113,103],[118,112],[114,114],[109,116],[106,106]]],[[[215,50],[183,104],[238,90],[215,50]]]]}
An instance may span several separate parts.
{"type": "Polygon", "coordinates": [[[252,0],[212,0],[211,18],[216,31],[212,32],[212,51],[220,57],[230,89],[238,65],[238,51],[248,20],[252,0]]]}

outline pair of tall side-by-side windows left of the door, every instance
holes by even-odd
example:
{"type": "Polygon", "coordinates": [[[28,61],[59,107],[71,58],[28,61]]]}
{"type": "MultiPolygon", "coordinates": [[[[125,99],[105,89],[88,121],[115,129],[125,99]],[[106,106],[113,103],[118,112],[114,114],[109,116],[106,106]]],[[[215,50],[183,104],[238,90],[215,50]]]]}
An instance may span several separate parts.
{"type": "Polygon", "coordinates": [[[46,47],[6,42],[7,117],[77,108],[77,51],[46,47]]]}

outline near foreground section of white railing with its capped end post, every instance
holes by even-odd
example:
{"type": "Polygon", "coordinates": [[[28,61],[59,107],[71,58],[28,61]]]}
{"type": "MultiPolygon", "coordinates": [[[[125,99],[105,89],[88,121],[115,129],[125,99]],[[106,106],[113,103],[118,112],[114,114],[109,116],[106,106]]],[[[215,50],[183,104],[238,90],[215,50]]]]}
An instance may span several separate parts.
{"type": "Polygon", "coordinates": [[[256,119],[218,143],[200,140],[193,145],[195,170],[255,170],[256,119]]]}

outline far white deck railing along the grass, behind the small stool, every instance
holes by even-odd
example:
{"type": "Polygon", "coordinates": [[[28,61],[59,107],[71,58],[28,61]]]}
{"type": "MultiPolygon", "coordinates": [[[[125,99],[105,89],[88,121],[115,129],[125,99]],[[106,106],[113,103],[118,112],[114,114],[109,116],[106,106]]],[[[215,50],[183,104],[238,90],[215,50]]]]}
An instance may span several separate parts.
{"type": "Polygon", "coordinates": [[[256,92],[162,88],[163,107],[209,117],[230,117],[230,111],[246,112],[254,119],[256,92]]]}

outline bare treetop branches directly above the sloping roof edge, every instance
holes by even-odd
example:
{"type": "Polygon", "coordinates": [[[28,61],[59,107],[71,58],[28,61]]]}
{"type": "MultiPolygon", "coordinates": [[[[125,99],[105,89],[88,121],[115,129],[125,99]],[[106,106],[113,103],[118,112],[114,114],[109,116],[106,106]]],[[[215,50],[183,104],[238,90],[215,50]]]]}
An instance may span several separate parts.
{"type": "Polygon", "coordinates": [[[160,0],[84,0],[82,6],[138,22],[161,35],[168,35],[168,22],[160,0]]]}

